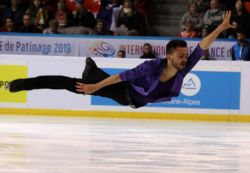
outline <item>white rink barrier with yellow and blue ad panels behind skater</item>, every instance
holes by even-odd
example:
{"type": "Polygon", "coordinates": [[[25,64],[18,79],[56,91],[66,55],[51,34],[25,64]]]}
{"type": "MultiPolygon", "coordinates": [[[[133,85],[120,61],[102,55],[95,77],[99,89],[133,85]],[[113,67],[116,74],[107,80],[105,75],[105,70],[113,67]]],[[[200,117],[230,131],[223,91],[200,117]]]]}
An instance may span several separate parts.
{"type": "MultiPolygon", "coordinates": [[[[93,59],[109,74],[131,69],[144,61],[93,59]]],[[[39,75],[81,77],[84,62],[85,57],[0,54],[0,113],[250,122],[250,63],[242,61],[200,61],[185,77],[180,96],[171,102],[148,104],[139,109],[118,105],[110,99],[64,90],[10,93],[5,89],[7,83],[16,78],[39,75]]]]}

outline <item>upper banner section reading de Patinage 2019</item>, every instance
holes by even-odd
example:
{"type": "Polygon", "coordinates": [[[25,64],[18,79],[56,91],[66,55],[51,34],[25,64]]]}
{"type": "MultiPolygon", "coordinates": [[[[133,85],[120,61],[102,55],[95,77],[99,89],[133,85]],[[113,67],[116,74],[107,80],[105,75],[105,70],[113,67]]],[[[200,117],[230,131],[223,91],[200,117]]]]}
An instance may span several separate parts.
{"type": "Polygon", "coordinates": [[[0,54],[77,56],[78,41],[67,37],[3,36],[0,54]]]}

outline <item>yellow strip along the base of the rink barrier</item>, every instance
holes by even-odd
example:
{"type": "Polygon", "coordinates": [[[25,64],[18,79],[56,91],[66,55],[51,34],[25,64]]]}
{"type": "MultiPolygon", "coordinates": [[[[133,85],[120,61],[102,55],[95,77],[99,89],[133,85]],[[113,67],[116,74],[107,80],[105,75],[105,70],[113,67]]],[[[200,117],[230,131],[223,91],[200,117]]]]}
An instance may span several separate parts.
{"type": "Polygon", "coordinates": [[[0,114],[27,116],[59,116],[82,118],[122,118],[122,119],[156,119],[156,120],[192,120],[192,121],[232,121],[250,122],[250,116],[215,115],[215,114],[177,114],[156,112],[114,112],[114,111],[76,111],[49,109],[7,109],[0,108],[0,114]]]}

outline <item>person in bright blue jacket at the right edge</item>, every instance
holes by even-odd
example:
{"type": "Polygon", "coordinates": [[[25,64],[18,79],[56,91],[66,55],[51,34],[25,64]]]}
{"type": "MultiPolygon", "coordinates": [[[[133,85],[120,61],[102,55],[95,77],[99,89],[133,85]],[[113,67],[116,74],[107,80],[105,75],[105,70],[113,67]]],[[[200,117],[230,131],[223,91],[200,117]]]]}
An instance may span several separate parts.
{"type": "Polygon", "coordinates": [[[232,60],[250,60],[250,43],[243,31],[237,31],[237,43],[232,47],[232,60]]]}

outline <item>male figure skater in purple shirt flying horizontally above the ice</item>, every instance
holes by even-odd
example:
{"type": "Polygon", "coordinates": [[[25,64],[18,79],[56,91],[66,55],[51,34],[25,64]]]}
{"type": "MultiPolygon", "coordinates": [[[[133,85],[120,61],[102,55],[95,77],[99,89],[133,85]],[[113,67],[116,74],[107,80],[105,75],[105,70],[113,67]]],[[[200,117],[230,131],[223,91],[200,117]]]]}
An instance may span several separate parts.
{"type": "Polygon", "coordinates": [[[10,92],[33,89],[66,89],[79,94],[107,97],[121,105],[138,108],[151,102],[169,101],[178,96],[185,75],[204,55],[218,35],[234,26],[231,12],[225,12],[223,22],[203,38],[188,56],[187,43],[172,40],[166,46],[166,58],[145,61],[120,74],[108,75],[91,58],[86,59],[82,79],[66,76],[38,76],[16,79],[9,84],[10,92]]]}

